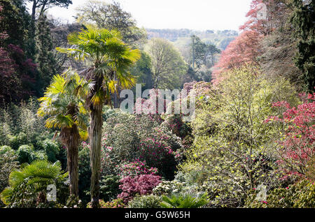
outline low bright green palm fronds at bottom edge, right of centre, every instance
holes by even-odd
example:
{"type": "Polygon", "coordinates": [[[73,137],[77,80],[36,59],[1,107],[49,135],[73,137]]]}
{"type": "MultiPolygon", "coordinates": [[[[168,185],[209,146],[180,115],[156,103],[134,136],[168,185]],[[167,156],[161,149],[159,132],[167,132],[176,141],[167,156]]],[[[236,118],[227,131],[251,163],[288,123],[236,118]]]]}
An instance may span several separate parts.
{"type": "Polygon", "coordinates": [[[170,197],[162,196],[161,207],[164,208],[200,208],[207,205],[207,193],[197,195],[191,193],[179,193],[170,197]]]}

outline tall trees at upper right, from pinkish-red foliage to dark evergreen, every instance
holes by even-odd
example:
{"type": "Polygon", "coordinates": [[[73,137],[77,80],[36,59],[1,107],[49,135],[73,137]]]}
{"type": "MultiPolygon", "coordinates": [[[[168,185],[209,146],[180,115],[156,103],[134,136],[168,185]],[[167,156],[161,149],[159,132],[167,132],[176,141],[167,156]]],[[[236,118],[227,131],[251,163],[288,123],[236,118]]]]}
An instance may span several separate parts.
{"type": "Polygon", "coordinates": [[[216,64],[214,84],[225,71],[251,63],[268,77],[286,77],[300,90],[314,91],[314,1],[256,0],[246,16],[241,34],[216,64]],[[264,19],[261,10],[267,10],[264,19]]]}

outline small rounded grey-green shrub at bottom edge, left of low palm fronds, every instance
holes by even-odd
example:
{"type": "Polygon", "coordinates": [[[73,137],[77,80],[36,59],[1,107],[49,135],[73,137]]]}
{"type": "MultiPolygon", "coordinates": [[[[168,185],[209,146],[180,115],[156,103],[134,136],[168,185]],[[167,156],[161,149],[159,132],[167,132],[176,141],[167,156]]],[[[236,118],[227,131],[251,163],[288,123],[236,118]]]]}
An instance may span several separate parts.
{"type": "Polygon", "coordinates": [[[161,208],[161,202],[158,195],[137,195],[128,203],[128,208],[161,208]]]}

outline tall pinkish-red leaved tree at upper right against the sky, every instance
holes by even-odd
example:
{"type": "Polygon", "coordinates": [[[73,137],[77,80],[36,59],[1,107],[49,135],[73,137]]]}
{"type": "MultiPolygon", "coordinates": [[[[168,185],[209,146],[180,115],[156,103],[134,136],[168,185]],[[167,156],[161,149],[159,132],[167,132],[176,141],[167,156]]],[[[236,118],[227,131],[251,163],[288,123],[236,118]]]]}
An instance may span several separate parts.
{"type": "Polygon", "coordinates": [[[261,40],[279,27],[281,15],[286,10],[282,0],[253,0],[246,14],[248,20],[239,29],[242,33],[221,53],[218,64],[212,73],[213,83],[224,79],[223,73],[246,63],[258,65],[262,55],[261,40]]]}

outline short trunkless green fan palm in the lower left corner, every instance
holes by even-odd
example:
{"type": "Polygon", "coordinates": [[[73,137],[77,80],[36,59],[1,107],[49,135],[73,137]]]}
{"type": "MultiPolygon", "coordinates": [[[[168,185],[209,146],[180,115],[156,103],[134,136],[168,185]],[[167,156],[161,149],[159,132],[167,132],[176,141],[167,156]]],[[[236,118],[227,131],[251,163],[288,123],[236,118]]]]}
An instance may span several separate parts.
{"type": "Polygon", "coordinates": [[[1,200],[7,207],[36,207],[36,198],[45,193],[47,186],[62,186],[66,177],[59,162],[34,161],[10,173],[10,186],[1,193],[1,200]]]}

